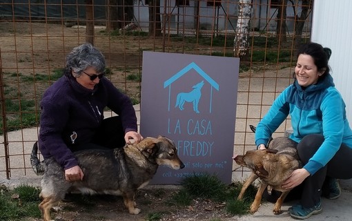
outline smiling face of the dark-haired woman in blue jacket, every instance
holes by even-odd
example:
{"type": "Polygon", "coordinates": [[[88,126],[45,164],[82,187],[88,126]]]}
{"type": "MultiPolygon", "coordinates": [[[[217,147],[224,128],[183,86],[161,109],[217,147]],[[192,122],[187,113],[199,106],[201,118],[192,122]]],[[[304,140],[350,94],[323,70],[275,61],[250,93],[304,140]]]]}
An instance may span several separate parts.
{"type": "Polygon", "coordinates": [[[323,73],[324,70],[317,70],[311,55],[301,54],[298,56],[297,65],[295,66],[295,77],[300,86],[307,87],[316,84],[323,73]]]}

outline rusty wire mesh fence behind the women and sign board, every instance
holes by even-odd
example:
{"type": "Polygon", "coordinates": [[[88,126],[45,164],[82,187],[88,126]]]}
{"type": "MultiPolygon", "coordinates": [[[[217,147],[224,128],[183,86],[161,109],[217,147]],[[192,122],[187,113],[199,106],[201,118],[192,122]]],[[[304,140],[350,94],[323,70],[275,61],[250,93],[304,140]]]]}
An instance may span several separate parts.
{"type": "MultiPolygon", "coordinates": [[[[234,153],[254,148],[248,125],[293,82],[295,48],[309,41],[312,7],[288,0],[1,1],[0,176],[32,174],[43,91],[61,76],[68,52],[86,41],[103,52],[107,77],[137,112],[143,51],[235,57],[241,50],[234,153]]],[[[289,127],[284,122],[275,135],[289,127]]],[[[234,177],[243,174],[233,169],[234,177]]]]}

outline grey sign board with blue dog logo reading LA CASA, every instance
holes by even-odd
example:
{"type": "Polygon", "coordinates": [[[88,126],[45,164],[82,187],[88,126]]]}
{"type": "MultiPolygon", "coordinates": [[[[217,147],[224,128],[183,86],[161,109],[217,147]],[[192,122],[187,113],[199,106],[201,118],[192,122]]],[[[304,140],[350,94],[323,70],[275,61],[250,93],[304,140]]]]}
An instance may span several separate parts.
{"type": "Polygon", "coordinates": [[[175,142],[184,169],[160,166],[152,184],[208,173],[231,183],[239,59],[143,52],[140,132],[175,142]]]}

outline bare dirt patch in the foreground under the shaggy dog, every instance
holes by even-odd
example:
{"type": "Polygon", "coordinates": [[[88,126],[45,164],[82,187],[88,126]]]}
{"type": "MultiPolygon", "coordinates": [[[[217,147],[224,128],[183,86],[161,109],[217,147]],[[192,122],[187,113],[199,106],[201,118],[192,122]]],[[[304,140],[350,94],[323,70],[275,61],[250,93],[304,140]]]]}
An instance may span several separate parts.
{"type": "MultiPolygon", "coordinates": [[[[191,206],[170,204],[168,199],[177,189],[142,189],[137,194],[137,207],[141,209],[138,215],[128,213],[122,198],[112,195],[86,196],[68,195],[63,202],[63,210],[52,211],[51,216],[56,221],[91,221],[91,220],[158,220],[153,215],[159,213],[159,220],[229,220],[232,215],[224,210],[224,204],[211,200],[194,200],[191,206]],[[83,202],[84,201],[84,202],[83,202]]],[[[39,221],[41,219],[30,219],[39,221]]],[[[232,218],[231,220],[236,220],[232,218]]]]}

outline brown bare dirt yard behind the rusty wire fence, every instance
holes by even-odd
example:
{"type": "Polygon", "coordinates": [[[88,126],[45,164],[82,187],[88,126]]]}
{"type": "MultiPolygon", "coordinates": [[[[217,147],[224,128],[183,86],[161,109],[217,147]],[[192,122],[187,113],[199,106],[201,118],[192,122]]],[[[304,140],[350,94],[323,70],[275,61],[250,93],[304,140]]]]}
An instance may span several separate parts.
{"type": "MultiPolygon", "coordinates": [[[[65,66],[68,52],[86,42],[84,26],[66,27],[55,23],[28,23],[0,20],[0,61],[4,81],[9,73],[35,76],[52,75],[65,66]]],[[[223,47],[199,46],[182,41],[168,41],[144,35],[109,35],[104,26],[95,26],[95,46],[103,52],[109,72],[106,77],[121,91],[139,102],[141,65],[144,50],[202,53],[206,55],[223,47]],[[129,75],[135,77],[129,78],[129,75]]],[[[7,83],[7,82],[6,82],[7,83]]],[[[43,93],[48,84],[35,82],[17,89],[26,95],[43,93]]]]}

